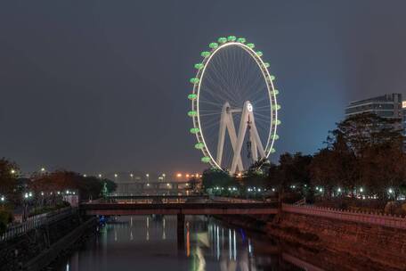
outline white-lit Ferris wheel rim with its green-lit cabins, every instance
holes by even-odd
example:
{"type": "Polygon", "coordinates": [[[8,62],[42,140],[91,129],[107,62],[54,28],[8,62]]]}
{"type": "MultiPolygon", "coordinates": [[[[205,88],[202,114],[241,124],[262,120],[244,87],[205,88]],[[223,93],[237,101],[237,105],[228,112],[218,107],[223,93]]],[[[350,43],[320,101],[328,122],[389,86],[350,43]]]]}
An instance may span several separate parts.
{"type": "Polygon", "coordinates": [[[265,146],[265,157],[268,158],[269,155],[274,152],[273,144],[276,139],[279,138],[276,135],[277,126],[280,124],[280,120],[278,119],[278,110],[280,109],[280,105],[277,103],[276,95],[278,94],[278,90],[276,90],[273,86],[274,77],[269,73],[268,67],[269,63],[264,62],[261,58],[263,55],[260,51],[254,51],[254,44],[246,44],[245,38],[236,38],[233,36],[230,37],[220,37],[218,39],[220,45],[217,43],[211,43],[209,47],[212,49],[211,52],[202,52],[201,55],[204,57],[201,63],[195,64],[195,68],[198,70],[196,73],[195,78],[191,78],[191,83],[193,84],[193,92],[189,94],[189,99],[191,100],[191,111],[189,111],[188,115],[193,119],[193,127],[191,128],[191,133],[196,135],[198,143],[195,144],[195,148],[201,150],[203,152],[204,157],[201,159],[203,162],[210,163],[210,165],[214,168],[222,169],[220,164],[216,162],[212,153],[207,148],[206,140],[204,134],[204,130],[201,127],[200,122],[200,111],[199,111],[199,97],[200,97],[200,89],[201,89],[201,82],[202,78],[204,78],[205,71],[207,66],[213,59],[216,53],[220,52],[222,49],[229,47],[229,46],[238,46],[244,49],[256,62],[256,65],[261,70],[261,73],[264,77],[264,82],[267,88],[267,94],[269,97],[270,103],[270,114],[271,114],[271,124],[268,132],[267,142],[265,146]],[[237,41],[236,41],[237,40],[237,41]]]}

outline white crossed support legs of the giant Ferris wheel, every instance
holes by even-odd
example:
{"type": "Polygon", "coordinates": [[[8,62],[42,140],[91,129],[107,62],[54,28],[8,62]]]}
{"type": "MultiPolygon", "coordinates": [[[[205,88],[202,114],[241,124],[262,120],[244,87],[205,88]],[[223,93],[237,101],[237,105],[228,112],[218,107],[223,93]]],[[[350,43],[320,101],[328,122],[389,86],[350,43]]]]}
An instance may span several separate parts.
{"type": "Polygon", "coordinates": [[[218,137],[218,144],[217,144],[217,156],[216,162],[218,165],[221,165],[223,159],[223,148],[224,148],[224,139],[225,139],[225,132],[228,131],[231,140],[232,151],[234,152],[234,156],[232,158],[230,174],[234,174],[237,168],[242,171],[244,170],[241,160],[241,149],[242,144],[244,143],[244,138],[247,133],[248,129],[248,122],[250,126],[249,130],[249,140],[251,141],[251,153],[253,161],[258,159],[258,154],[261,158],[264,158],[265,151],[264,146],[261,143],[261,139],[259,137],[258,131],[256,129],[256,121],[254,118],[253,107],[249,101],[244,103],[242,113],[241,113],[241,120],[240,120],[240,127],[239,127],[239,134],[236,135],[234,121],[232,119],[232,112],[241,112],[241,110],[231,110],[230,103],[224,103],[222,115],[220,119],[220,129],[219,129],[219,137],[218,137]],[[259,152],[259,153],[258,153],[259,152]]]}

